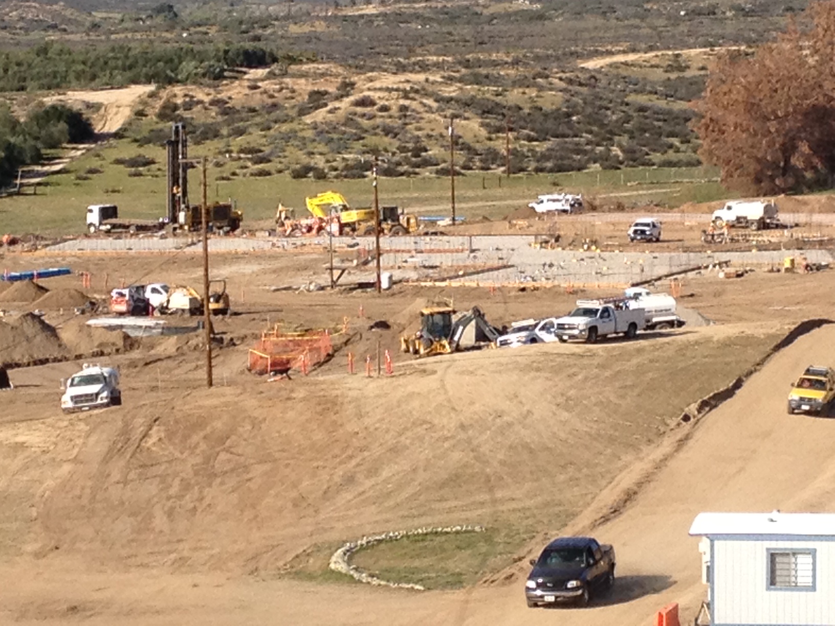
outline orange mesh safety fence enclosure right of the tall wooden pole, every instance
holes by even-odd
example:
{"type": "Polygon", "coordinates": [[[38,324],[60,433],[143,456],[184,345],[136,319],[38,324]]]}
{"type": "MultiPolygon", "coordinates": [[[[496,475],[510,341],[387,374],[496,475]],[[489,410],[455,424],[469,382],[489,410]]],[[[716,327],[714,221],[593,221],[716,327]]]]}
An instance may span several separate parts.
{"type": "Polygon", "coordinates": [[[254,374],[299,370],[307,374],[333,354],[330,331],[280,333],[278,329],[261,334],[249,351],[246,369],[254,374]]]}

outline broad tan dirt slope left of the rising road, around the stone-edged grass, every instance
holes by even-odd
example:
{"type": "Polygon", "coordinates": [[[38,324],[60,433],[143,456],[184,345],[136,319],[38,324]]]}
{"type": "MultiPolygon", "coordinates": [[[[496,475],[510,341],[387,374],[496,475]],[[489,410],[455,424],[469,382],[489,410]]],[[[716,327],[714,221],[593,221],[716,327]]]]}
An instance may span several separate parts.
{"type": "Polygon", "coordinates": [[[557,532],[682,405],[776,341],[751,329],[400,362],[371,381],[340,363],[266,383],[222,351],[210,391],[193,353],[123,357],[124,406],[71,417],[55,390],[73,364],[14,371],[0,569],[16,599],[0,621],[60,623],[68,607],[84,623],[553,619],[524,608],[519,581],[416,594],[276,576],[306,548],[394,528],[557,532]]]}

